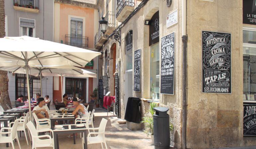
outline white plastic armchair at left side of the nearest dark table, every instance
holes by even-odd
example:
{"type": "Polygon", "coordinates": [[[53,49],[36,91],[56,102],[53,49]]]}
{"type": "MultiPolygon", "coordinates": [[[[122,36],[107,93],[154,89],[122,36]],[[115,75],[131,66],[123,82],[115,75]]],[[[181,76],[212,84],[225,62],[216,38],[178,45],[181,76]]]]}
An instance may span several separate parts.
{"type": "MultiPolygon", "coordinates": [[[[54,148],[54,139],[50,135],[38,135],[39,132],[44,132],[45,130],[36,130],[34,124],[30,121],[27,124],[29,131],[32,137],[32,149],[37,147],[53,147],[54,148]],[[40,139],[47,137],[48,139],[40,139]]],[[[53,130],[48,129],[46,131],[51,131],[53,135],[53,130]]]]}

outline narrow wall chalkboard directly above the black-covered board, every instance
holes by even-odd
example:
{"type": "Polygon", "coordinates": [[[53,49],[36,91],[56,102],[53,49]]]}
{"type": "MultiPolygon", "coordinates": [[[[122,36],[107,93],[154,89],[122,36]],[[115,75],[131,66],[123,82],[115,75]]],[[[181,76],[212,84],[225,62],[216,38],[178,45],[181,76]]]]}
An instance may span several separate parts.
{"type": "Polygon", "coordinates": [[[134,91],[140,92],[141,50],[134,51],[134,91]]]}

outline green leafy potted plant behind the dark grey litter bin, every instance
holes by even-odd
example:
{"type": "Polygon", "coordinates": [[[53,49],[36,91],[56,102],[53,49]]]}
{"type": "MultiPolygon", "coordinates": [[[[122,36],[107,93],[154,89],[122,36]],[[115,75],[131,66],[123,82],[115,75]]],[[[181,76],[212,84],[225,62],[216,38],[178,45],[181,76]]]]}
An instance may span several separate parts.
{"type": "MultiPolygon", "coordinates": [[[[146,112],[146,116],[142,118],[141,123],[144,123],[145,130],[144,133],[147,135],[147,137],[150,135],[152,144],[154,144],[154,119],[153,115],[155,114],[155,107],[158,107],[159,105],[155,102],[151,102],[149,105],[149,110],[146,112]]],[[[173,124],[170,124],[170,131],[173,131],[173,124]]]]}

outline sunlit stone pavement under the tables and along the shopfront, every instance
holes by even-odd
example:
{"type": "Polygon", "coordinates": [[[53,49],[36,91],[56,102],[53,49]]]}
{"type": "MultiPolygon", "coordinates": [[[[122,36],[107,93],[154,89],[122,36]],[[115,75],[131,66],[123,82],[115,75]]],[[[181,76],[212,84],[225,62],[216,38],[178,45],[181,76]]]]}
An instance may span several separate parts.
{"type": "MultiPolygon", "coordinates": [[[[51,108],[53,109],[53,108],[51,108]]],[[[101,108],[95,108],[94,113],[94,127],[98,127],[102,118],[108,120],[106,125],[105,137],[107,141],[108,149],[153,149],[154,145],[151,144],[151,138],[143,133],[142,130],[131,131],[127,129],[126,124],[118,124],[116,117],[112,113],[101,108]]],[[[31,145],[27,145],[24,133],[21,134],[20,144],[22,149],[31,149],[31,145]]],[[[76,144],[73,144],[72,138],[67,138],[68,134],[59,136],[59,145],[60,149],[82,149],[82,141],[80,135],[76,138],[76,144]]],[[[29,138],[28,138],[29,139],[29,138]]],[[[29,143],[31,143],[29,141],[29,143]]],[[[18,149],[18,143],[14,142],[15,148],[18,149]]],[[[5,144],[0,144],[0,149],[11,149],[12,147],[6,148],[5,144]]],[[[88,149],[100,149],[101,145],[98,144],[89,144],[88,149]]],[[[45,147],[44,149],[52,149],[52,147],[45,147]]]]}

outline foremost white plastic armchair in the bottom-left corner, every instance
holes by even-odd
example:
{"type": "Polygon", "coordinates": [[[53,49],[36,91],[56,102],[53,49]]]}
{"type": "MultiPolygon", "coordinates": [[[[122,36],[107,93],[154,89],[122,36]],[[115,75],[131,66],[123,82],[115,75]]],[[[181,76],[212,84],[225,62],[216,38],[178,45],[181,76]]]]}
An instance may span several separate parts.
{"type": "Polygon", "coordinates": [[[19,138],[18,138],[18,135],[17,135],[18,123],[19,123],[19,119],[15,120],[12,127],[3,127],[3,128],[1,128],[1,130],[0,130],[0,143],[11,143],[12,148],[14,149],[13,141],[14,141],[14,139],[17,139],[17,142],[19,144],[19,148],[21,149],[20,141],[19,141],[19,138]],[[4,132],[4,130],[8,130],[8,132],[4,132]],[[9,130],[11,130],[11,131],[9,131],[9,130]],[[9,134],[9,135],[5,136],[6,134],[9,134]]]}

